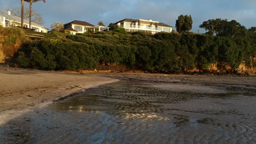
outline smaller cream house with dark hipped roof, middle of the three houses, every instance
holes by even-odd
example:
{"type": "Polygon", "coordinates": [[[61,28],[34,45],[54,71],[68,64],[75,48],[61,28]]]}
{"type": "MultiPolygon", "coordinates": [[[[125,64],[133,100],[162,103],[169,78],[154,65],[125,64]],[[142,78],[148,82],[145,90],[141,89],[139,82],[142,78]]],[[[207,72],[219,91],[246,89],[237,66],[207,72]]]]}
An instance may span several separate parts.
{"type": "Polygon", "coordinates": [[[64,29],[66,31],[71,32],[71,34],[77,34],[77,33],[85,33],[88,32],[89,30],[91,31],[103,31],[107,27],[104,26],[94,26],[91,23],[85,22],[85,21],[72,21],[69,23],[66,23],[64,25],[64,29]]]}

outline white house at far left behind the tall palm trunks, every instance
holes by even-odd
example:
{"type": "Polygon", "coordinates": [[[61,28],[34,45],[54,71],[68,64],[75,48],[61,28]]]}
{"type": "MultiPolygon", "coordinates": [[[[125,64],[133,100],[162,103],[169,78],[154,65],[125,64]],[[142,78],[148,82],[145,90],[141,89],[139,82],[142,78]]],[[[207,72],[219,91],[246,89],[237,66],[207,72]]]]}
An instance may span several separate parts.
{"type": "MultiPolygon", "coordinates": [[[[42,25],[32,22],[31,28],[36,32],[47,33],[48,29],[42,25]]],[[[3,27],[20,27],[21,17],[11,15],[11,11],[7,10],[7,13],[0,11],[0,25],[3,27]]],[[[30,27],[30,21],[24,19],[24,27],[30,27]]]]}

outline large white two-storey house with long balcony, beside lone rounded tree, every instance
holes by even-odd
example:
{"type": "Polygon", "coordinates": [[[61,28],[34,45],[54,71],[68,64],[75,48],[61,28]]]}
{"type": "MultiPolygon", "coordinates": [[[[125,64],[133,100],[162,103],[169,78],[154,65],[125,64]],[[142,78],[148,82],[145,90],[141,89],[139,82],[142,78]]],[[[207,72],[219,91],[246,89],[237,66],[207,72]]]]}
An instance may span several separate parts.
{"type": "Polygon", "coordinates": [[[124,19],[114,23],[118,27],[123,27],[127,32],[146,32],[149,34],[156,34],[159,32],[172,32],[173,27],[166,25],[165,23],[149,20],[134,20],[134,19],[124,19]]]}

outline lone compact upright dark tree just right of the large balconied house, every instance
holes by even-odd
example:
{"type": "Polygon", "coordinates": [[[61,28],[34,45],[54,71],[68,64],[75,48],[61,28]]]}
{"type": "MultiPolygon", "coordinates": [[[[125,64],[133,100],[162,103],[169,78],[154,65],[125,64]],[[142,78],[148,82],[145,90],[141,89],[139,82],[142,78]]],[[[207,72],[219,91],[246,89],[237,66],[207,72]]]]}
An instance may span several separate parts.
{"type": "Polygon", "coordinates": [[[176,30],[177,32],[190,31],[192,28],[193,20],[191,15],[180,15],[178,20],[176,20],[176,30]]]}

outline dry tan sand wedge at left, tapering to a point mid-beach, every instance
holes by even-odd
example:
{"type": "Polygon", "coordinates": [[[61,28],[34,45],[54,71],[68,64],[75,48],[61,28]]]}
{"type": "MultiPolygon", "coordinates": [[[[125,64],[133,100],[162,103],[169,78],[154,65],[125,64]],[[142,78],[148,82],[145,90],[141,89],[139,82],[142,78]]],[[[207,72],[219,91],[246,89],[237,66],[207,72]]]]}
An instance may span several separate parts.
{"type": "Polygon", "coordinates": [[[118,80],[88,75],[0,68],[0,125],[35,106],[118,80]]]}

